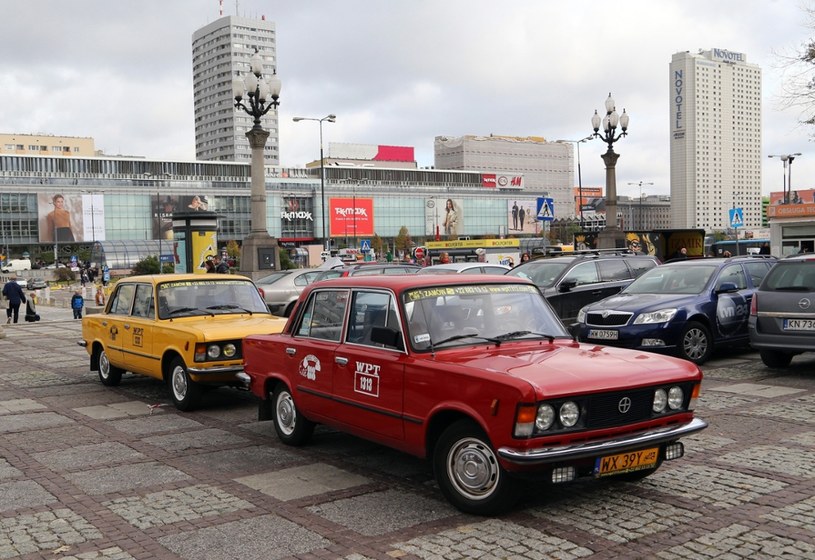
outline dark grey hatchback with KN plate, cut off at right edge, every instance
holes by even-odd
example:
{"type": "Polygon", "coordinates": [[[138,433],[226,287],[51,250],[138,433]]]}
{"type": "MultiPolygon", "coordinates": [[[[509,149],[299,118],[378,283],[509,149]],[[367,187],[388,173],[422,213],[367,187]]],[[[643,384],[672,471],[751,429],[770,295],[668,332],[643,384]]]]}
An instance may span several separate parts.
{"type": "Polygon", "coordinates": [[[815,351],[815,255],[778,261],[753,294],[750,345],[764,365],[784,368],[793,356],[815,351]]]}

